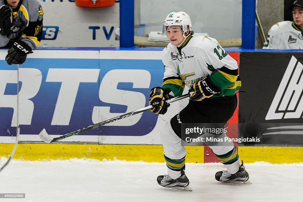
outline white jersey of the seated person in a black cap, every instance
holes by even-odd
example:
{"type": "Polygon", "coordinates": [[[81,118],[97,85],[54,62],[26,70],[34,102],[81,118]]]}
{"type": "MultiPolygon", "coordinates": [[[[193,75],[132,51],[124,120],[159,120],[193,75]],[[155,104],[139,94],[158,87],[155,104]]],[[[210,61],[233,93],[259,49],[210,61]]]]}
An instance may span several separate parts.
{"type": "Polygon", "coordinates": [[[268,31],[263,49],[302,49],[302,30],[294,22],[282,21],[273,25],[268,31]]]}

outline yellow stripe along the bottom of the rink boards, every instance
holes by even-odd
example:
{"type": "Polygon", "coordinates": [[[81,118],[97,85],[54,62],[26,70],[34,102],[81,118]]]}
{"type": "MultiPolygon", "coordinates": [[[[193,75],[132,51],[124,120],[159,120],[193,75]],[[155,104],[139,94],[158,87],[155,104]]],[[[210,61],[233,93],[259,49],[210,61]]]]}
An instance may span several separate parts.
{"type": "MultiPolygon", "coordinates": [[[[15,144],[0,144],[0,157],[9,157],[15,144]]],[[[204,163],[203,146],[185,146],[187,163],[204,163]]],[[[244,163],[265,161],[274,164],[303,162],[303,147],[238,147],[244,163]]],[[[27,161],[91,158],[165,162],[162,145],[112,144],[18,144],[14,159],[27,161]]]]}

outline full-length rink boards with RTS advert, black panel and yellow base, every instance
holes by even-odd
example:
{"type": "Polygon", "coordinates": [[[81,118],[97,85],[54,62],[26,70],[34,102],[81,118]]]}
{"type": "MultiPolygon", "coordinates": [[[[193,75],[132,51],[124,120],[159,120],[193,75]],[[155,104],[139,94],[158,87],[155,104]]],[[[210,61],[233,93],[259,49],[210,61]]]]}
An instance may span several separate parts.
{"type": "MultiPolygon", "coordinates": [[[[239,118],[237,109],[230,122],[268,124],[265,129],[259,128],[265,144],[239,146],[240,158],[248,162],[302,162],[300,129],[266,131],[271,124],[301,127],[303,85],[292,84],[296,79],[301,82],[301,76],[293,76],[302,71],[301,53],[240,52],[239,56],[235,50],[227,51],[240,61],[240,90],[246,93],[238,94],[239,118]],[[289,96],[285,89],[294,95],[289,96]],[[290,104],[284,107],[285,103],[290,104]]],[[[15,142],[17,124],[17,65],[6,64],[6,51],[0,50],[0,156],[10,154],[13,145],[8,143],[15,142]]],[[[19,65],[18,121],[23,144],[19,144],[16,157],[162,162],[161,128],[186,106],[187,100],[171,104],[162,116],[146,111],[57,142],[66,144],[40,144],[38,133],[45,128],[52,137],[59,137],[143,108],[148,105],[150,88],[161,85],[163,72],[159,49],[35,50],[19,65]]],[[[208,147],[187,146],[187,151],[187,162],[218,161],[208,147]]]]}

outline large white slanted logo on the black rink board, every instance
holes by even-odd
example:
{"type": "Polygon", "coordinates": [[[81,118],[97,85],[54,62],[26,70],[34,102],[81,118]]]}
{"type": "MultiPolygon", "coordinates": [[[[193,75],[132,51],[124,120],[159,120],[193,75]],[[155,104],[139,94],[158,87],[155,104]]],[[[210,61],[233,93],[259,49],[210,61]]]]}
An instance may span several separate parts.
{"type": "Polygon", "coordinates": [[[303,65],[292,56],[271,102],[266,120],[302,118],[303,65]]]}

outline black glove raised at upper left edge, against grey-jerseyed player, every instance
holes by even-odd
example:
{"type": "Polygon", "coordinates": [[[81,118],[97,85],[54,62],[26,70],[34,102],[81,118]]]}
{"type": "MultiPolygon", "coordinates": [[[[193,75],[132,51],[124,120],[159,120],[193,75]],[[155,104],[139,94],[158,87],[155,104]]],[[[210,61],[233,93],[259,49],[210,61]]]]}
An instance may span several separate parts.
{"type": "Polygon", "coordinates": [[[8,5],[4,5],[0,8],[0,34],[7,36],[10,35],[13,28],[13,10],[8,5]]]}

